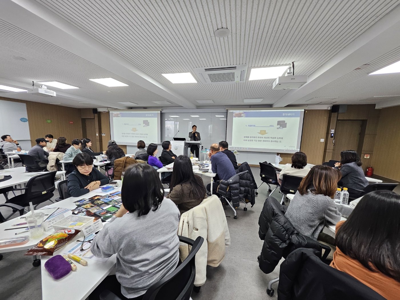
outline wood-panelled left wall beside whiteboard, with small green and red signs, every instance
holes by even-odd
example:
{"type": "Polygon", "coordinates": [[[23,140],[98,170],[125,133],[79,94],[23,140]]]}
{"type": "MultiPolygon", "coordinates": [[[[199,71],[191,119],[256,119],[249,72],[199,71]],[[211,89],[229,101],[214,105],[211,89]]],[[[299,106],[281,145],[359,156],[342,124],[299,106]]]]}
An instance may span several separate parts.
{"type": "MultiPolygon", "coordinates": [[[[44,138],[46,134],[52,134],[54,138],[64,136],[68,143],[71,143],[74,138],[82,138],[82,123],[79,108],[4,97],[0,97],[0,99],[26,104],[32,146],[36,144],[35,140],[37,138],[44,138]],[[51,123],[47,123],[46,120],[51,120],[51,123]],[[70,121],[73,124],[70,124],[70,121]]],[[[9,134],[12,134],[12,132],[9,134]]]]}

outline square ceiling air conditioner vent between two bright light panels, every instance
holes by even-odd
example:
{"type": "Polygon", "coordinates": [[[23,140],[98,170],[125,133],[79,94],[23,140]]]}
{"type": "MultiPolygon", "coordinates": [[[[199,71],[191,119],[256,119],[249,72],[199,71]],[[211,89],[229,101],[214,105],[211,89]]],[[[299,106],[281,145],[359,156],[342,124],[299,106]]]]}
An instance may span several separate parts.
{"type": "Polygon", "coordinates": [[[228,84],[244,82],[246,79],[247,65],[221,66],[195,68],[201,82],[206,84],[228,84]]]}

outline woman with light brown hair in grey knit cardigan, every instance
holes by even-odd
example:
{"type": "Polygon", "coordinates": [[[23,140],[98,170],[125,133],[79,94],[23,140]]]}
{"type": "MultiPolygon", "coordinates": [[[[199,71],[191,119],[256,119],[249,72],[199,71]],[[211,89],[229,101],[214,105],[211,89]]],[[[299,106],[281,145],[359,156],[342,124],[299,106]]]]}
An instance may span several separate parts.
{"type": "Polygon", "coordinates": [[[338,170],[323,165],[312,167],[304,177],[285,213],[301,234],[317,240],[326,221],[340,221],[342,214],[332,199],[340,178],[338,170]]]}

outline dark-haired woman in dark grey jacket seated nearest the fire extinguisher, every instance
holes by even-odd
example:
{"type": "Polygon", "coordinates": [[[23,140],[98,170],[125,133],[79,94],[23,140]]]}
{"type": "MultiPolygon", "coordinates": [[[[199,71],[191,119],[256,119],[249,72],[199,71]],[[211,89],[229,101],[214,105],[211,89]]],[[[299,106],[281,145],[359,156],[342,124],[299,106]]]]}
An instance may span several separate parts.
{"type": "Polygon", "coordinates": [[[361,192],[357,190],[364,190],[368,185],[361,165],[360,156],[354,150],[340,152],[340,162],[335,164],[335,169],[342,173],[340,184],[344,188],[348,188],[350,197],[358,198],[361,192]]]}

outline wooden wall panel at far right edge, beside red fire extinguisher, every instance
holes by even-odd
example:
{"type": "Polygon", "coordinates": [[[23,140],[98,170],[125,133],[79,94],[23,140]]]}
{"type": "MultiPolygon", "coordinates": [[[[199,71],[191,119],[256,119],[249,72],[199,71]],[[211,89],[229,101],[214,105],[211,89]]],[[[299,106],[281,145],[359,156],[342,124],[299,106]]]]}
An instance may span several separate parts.
{"type": "Polygon", "coordinates": [[[396,181],[400,181],[399,116],[400,106],[383,108],[381,110],[376,132],[374,156],[372,159],[370,158],[374,174],[396,181]]]}

